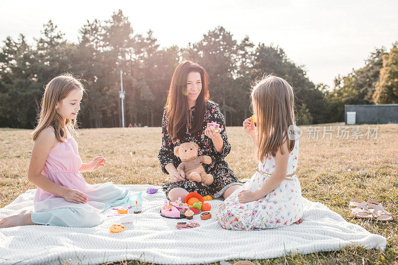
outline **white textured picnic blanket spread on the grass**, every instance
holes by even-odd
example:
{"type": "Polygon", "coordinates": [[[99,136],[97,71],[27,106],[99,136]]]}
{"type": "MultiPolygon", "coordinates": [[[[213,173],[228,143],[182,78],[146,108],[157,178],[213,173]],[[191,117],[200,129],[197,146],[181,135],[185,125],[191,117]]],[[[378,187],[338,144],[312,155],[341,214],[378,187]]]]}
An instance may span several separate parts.
{"type": "MultiPolygon", "coordinates": [[[[122,185],[121,185],[122,186],[122,185]]],[[[132,191],[146,191],[152,185],[123,185],[132,191]]],[[[160,188],[160,187],[157,187],[160,188]]],[[[27,190],[4,208],[0,218],[20,209],[33,209],[34,190],[27,190]]],[[[210,201],[212,218],[200,220],[200,227],[178,230],[178,220],[160,216],[165,199],[159,189],[143,192],[141,214],[126,224],[121,233],[109,226],[119,217],[105,217],[93,228],[22,226],[0,229],[0,264],[102,264],[141,260],[156,264],[200,264],[231,259],[267,259],[289,252],[309,254],[334,251],[347,245],[366,249],[386,248],[386,238],[346,222],[325,205],[304,199],[303,222],[289,227],[261,231],[229,231],[217,223],[215,212],[221,200],[210,201]]],[[[107,210],[104,215],[114,214],[107,210]]],[[[188,221],[180,219],[180,221],[188,221]]]]}

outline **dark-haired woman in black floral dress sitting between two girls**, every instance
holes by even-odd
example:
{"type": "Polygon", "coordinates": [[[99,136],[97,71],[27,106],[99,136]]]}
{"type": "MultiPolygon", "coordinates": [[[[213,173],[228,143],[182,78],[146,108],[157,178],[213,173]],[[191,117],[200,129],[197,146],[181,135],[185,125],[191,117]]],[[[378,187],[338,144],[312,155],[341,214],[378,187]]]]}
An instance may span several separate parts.
{"type": "Polygon", "coordinates": [[[159,161],[162,171],[170,174],[170,183],[163,185],[170,200],[184,201],[189,192],[226,198],[242,182],[224,161],[231,145],[225,132],[225,121],[218,105],[209,100],[208,75],[198,64],[183,61],[174,71],[162,121],[162,147],[159,161]],[[218,123],[219,130],[206,129],[207,122],[218,123]],[[199,156],[211,157],[211,164],[203,164],[206,173],[213,175],[210,185],[186,179],[177,172],[181,160],[174,155],[174,147],[186,142],[199,145],[199,156]]]}

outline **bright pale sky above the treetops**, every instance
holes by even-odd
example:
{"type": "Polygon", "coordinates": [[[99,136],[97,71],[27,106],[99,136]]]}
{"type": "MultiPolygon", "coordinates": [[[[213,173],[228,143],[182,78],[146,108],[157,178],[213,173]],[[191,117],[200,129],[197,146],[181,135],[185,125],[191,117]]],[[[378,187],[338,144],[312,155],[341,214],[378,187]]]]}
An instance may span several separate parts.
{"type": "Polygon", "coordinates": [[[109,19],[117,9],[135,33],[154,31],[161,47],[186,47],[218,25],[238,41],[248,35],[255,44],[273,43],[303,65],[312,82],[330,87],[337,75],[364,66],[375,48],[390,50],[398,41],[396,0],[2,1],[0,41],[23,33],[33,43],[51,19],[77,42],[87,20],[109,19]]]}

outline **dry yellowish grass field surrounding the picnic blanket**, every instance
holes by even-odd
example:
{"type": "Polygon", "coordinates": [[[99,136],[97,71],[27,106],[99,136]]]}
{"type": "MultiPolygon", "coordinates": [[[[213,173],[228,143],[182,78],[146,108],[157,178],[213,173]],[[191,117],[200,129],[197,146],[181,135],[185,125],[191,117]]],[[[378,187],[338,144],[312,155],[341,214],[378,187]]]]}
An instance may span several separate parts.
{"type": "MultiPolygon", "coordinates": [[[[396,264],[398,265],[397,222],[381,223],[374,220],[354,219],[348,211],[350,199],[373,198],[398,217],[398,125],[378,125],[377,139],[366,139],[366,128],[377,125],[359,125],[364,128],[363,138],[351,139],[355,126],[348,126],[349,139],[339,139],[338,126],[332,126],[333,139],[323,136],[307,139],[311,130],[302,126],[298,176],[305,198],[318,201],[342,215],[347,221],[361,225],[368,231],[387,238],[387,249],[364,250],[348,248],[311,255],[292,254],[274,260],[253,261],[256,264],[396,264]]],[[[33,142],[30,130],[0,129],[0,207],[14,200],[27,189],[34,188],[27,180],[33,142]]],[[[80,155],[88,163],[103,155],[107,167],[93,173],[84,173],[89,183],[113,181],[118,184],[161,184],[168,180],[158,162],[160,128],[81,129],[77,137],[80,155]]],[[[256,167],[250,137],[240,127],[227,127],[232,145],[226,160],[239,178],[251,177],[256,167]]],[[[136,264],[124,261],[120,264],[136,264]]]]}

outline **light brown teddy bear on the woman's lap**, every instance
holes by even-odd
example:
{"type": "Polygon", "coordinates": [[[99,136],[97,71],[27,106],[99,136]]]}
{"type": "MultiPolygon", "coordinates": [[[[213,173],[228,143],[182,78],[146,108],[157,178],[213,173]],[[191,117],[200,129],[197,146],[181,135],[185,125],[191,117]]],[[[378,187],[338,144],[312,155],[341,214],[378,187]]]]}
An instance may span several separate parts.
{"type": "Polygon", "coordinates": [[[198,151],[199,146],[194,142],[176,146],[174,148],[174,155],[182,161],[177,167],[177,171],[184,172],[188,179],[210,185],[213,183],[213,176],[204,171],[202,164],[211,164],[211,157],[198,156],[198,151]]]}

